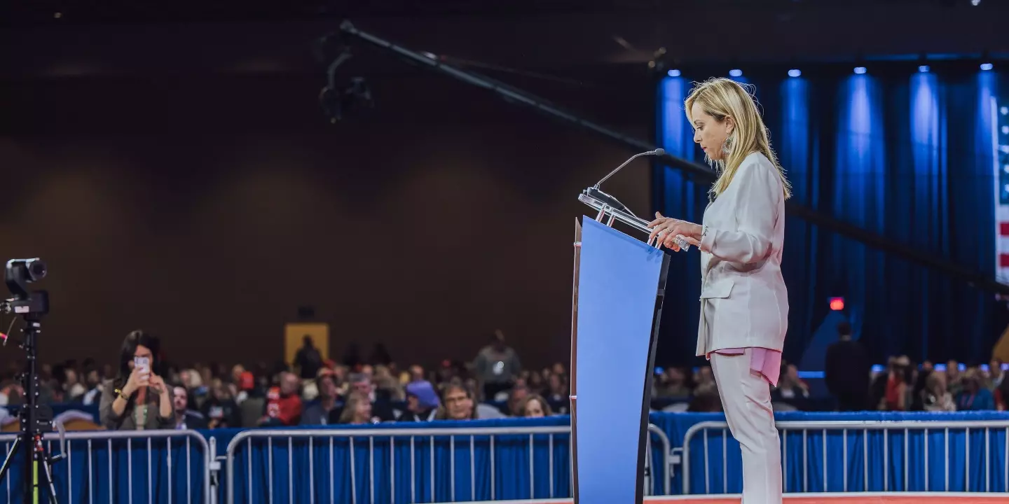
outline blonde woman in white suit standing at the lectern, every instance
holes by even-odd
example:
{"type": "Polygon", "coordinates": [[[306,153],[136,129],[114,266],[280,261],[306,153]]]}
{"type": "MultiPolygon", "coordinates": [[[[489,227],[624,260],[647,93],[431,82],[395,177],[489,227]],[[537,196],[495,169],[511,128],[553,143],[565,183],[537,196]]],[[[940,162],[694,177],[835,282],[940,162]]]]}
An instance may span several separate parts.
{"type": "Polygon", "coordinates": [[[652,236],[701,252],[697,355],[711,362],[728,427],[743,450],[744,504],[781,502],[781,455],[771,409],[788,326],[781,276],[790,187],[751,94],[728,79],[687,97],[694,141],[718,172],[702,225],[656,214],[652,236]]]}

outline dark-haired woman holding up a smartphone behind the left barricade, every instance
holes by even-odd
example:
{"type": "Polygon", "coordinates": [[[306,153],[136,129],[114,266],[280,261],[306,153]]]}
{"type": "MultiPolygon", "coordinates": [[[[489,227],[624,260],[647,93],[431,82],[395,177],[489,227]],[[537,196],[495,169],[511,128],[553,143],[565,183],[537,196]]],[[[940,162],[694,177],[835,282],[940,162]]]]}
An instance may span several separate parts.
{"type": "Polygon", "coordinates": [[[102,387],[102,426],[110,430],[174,428],[172,395],[154,374],[160,342],[143,331],[126,335],[119,354],[119,375],[102,387]]]}

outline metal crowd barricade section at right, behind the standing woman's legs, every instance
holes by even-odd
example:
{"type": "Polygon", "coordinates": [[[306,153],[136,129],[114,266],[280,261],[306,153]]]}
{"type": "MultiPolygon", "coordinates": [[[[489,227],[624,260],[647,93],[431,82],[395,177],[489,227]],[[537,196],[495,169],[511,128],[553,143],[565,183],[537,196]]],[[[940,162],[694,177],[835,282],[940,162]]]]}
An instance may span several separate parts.
{"type": "MultiPolygon", "coordinates": [[[[923,475],[923,490],[928,491],[973,491],[973,492],[991,492],[993,489],[993,476],[995,478],[1001,478],[1001,491],[1009,491],[1009,421],[994,421],[994,420],[979,420],[979,421],[941,421],[941,420],[898,420],[898,421],[883,421],[883,420],[818,420],[818,421],[778,421],[776,423],[779,433],[781,435],[781,450],[782,450],[782,473],[783,473],[783,485],[785,491],[789,491],[789,438],[794,437],[796,433],[800,433],[801,438],[801,465],[800,470],[802,473],[801,477],[801,489],[796,489],[794,491],[806,492],[810,487],[810,466],[813,464],[820,464],[822,466],[822,471],[819,475],[812,475],[813,478],[822,478],[822,486],[826,488],[828,486],[828,476],[833,478],[837,477],[836,472],[840,472],[842,478],[842,488],[839,490],[844,492],[849,491],[870,491],[870,480],[882,480],[882,491],[908,491],[909,486],[922,486],[921,482],[914,481],[909,482],[910,470],[909,466],[912,461],[915,463],[921,463],[923,466],[922,471],[916,471],[914,479],[918,480],[920,473],[923,475]],[[882,431],[882,460],[873,459],[870,457],[870,435],[871,431],[882,431]],[[958,432],[963,431],[965,436],[965,443],[963,447],[950,448],[950,430],[954,431],[956,435],[958,432]],[[984,432],[984,452],[983,455],[980,453],[975,453],[974,457],[981,458],[983,462],[980,464],[982,466],[983,472],[980,474],[972,473],[972,469],[979,470],[979,464],[975,464],[972,467],[972,430],[975,434],[983,431],[984,432]],[[840,431],[840,442],[842,442],[842,453],[840,460],[833,460],[828,457],[828,440],[827,432],[834,431],[833,435],[836,435],[836,431],[840,431]],[[916,439],[914,445],[911,443],[910,433],[922,432],[924,435],[921,439],[916,439]],[[815,433],[812,433],[815,432],[815,433]],[[853,435],[858,435],[861,433],[862,443],[857,448],[861,449],[861,459],[863,461],[861,474],[851,474],[849,471],[849,435],[854,432],[853,435]],[[929,433],[936,434],[941,432],[942,444],[941,444],[941,454],[935,454],[933,456],[939,457],[942,465],[942,481],[931,481],[930,473],[934,466],[929,466],[929,445],[934,445],[930,443],[929,433]],[[902,434],[901,444],[900,440],[896,443],[902,445],[896,450],[891,450],[891,444],[894,443],[894,436],[899,436],[902,434]],[[822,461],[810,460],[809,458],[809,445],[813,436],[819,436],[822,439],[822,445],[819,450],[822,451],[822,461]],[[993,437],[998,436],[996,444],[1001,443],[1002,447],[998,452],[1001,454],[995,454],[997,457],[1001,455],[1001,464],[996,461],[993,464],[993,451],[992,451],[992,440],[993,437]],[[897,453],[895,453],[897,452],[897,453]],[[911,452],[914,452],[915,457],[912,458],[911,452]],[[921,457],[916,457],[918,453],[921,453],[921,457]],[[959,468],[951,467],[950,458],[959,457],[959,452],[963,452],[964,458],[963,462],[963,486],[967,487],[964,489],[950,489],[950,471],[958,471],[959,468]],[[875,460],[877,464],[871,464],[871,460],[875,460]],[[878,474],[879,465],[882,466],[882,476],[878,474]],[[877,466],[877,467],[873,467],[877,466]],[[902,469],[902,474],[891,475],[891,469],[894,473],[897,473],[898,469],[902,469]],[[998,474],[992,473],[993,468],[998,471],[998,474]],[[871,472],[871,469],[874,470],[871,472]],[[850,477],[859,478],[862,480],[861,489],[860,488],[849,488],[850,477]],[[874,478],[875,477],[875,478],[874,478]],[[983,478],[983,483],[981,482],[983,478]],[[913,485],[909,485],[913,483],[913,485]],[[978,488],[971,488],[972,483],[974,483],[978,488]]],[[[702,436],[703,443],[703,458],[704,458],[704,493],[711,493],[711,484],[709,478],[709,472],[711,467],[709,465],[709,444],[708,444],[708,431],[718,430],[721,434],[720,447],[715,447],[716,450],[720,449],[722,454],[721,457],[721,476],[722,482],[720,488],[715,488],[714,493],[726,493],[726,488],[728,486],[728,471],[727,471],[727,457],[726,454],[726,443],[728,438],[728,424],[724,421],[703,421],[692,425],[687,429],[683,436],[683,493],[690,493],[690,472],[691,472],[691,458],[694,456],[691,454],[690,444],[691,440],[697,435],[702,436]]],[[[898,438],[899,439],[899,438],[898,438]]],[[[836,440],[836,439],[835,439],[836,440]]],[[[880,450],[877,446],[878,442],[874,440],[872,446],[875,450],[880,450]]],[[[794,444],[794,442],[793,442],[794,444]]],[[[793,448],[794,450],[794,448],[793,448]]],[[[933,448],[934,450],[934,448],[933,448]]],[[[853,461],[855,461],[854,455],[852,456],[853,461]]],[[[793,463],[794,464],[794,463],[793,463]]],[[[796,468],[792,468],[793,471],[796,468]]],[[[957,477],[960,479],[960,474],[957,477]]],[[[834,480],[836,481],[836,480],[834,480]]],[[[819,485],[819,481],[816,481],[816,485],[819,485]]],[[[792,482],[792,486],[798,486],[797,482],[792,482]]],[[[854,485],[853,485],[854,486],[854,485]]],[[[876,485],[873,485],[876,486],[876,485]]],[[[958,485],[960,486],[960,485],[958,485]]],[[[878,491],[878,489],[874,489],[878,491]]]]}

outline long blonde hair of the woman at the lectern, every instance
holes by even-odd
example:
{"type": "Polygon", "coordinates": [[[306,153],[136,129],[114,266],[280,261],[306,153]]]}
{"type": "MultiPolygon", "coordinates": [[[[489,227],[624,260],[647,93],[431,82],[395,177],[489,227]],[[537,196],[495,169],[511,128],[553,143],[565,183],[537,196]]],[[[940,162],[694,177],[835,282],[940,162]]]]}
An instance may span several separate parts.
{"type": "Polygon", "coordinates": [[[694,104],[700,105],[704,113],[713,117],[718,122],[732,117],[735,121],[735,128],[730,136],[732,138],[728,153],[724,159],[716,161],[708,160],[717,170],[718,179],[711,185],[710,195],[717,198],[728,187],[739,169],[743,159],[754,152],[760,152],[767,157],[771,164],[778,168],[778,177],[781,178],[782,187],[785,191],[785,199],[791,198],[792,186],[785,178],[785,170],[778,163],[778,157],[771,150],[770,134],[764,120],[761,119],[760,111],[757,109],[757,100],[753,97],[750,87],[744,87],[732,79],[715,78],[708,79],[697,84],[684,100],[687,120],[693,126],[693,118],[690,117],[694,104]]]}

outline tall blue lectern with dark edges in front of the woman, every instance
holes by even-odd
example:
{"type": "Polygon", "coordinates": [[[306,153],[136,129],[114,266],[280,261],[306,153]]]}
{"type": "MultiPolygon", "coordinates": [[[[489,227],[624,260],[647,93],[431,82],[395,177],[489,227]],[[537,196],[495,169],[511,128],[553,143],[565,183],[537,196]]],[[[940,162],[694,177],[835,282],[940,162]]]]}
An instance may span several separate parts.
{"type": "MultiPolygon", "coordinates": [[[[647,223],[599,210],[575,230],[571,336],[572,489],[576,504],[641,504],[655,347],[669,256],[611,227],[647,223]],[[606,224],[601,221],[607,218],[606,224]]],[[[593,205],[593,204],[597,204],[593,205]]]]}

